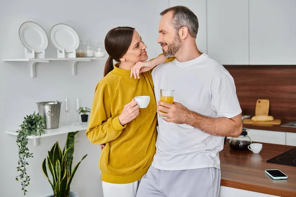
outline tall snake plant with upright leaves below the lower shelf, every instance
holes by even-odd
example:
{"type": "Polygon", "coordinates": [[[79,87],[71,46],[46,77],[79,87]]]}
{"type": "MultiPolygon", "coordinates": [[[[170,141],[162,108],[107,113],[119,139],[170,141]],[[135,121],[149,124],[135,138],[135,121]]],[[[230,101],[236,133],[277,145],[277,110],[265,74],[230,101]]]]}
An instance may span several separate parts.
{"type": "Polygon", "coordinates": [[[42,170],[53,190],[53,195],[48,197],[78,197],[76,192],[70,191],[70,184],[79,164],[87,156],[87,154],[75,165],[72,170],[74,144],[76,143],[74,140],[77,132],[78,131],[68,133],[63,152],[59,146],[59,142],[56,142],[50,151],[48,151],[47,167],[53,177],[52,181],[49,179],[47,174],[46,158],[43,160],[42,170]]]}

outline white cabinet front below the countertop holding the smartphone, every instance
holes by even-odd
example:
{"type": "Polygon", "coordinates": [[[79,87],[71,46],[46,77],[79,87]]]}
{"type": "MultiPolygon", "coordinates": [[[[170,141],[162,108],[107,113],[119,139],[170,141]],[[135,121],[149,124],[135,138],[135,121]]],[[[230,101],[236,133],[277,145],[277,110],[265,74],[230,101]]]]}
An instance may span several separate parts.
{"type": "Polygon", "coordinates": [[[278,196],[221,186],[219,197],[278,197],[278,196]]]}

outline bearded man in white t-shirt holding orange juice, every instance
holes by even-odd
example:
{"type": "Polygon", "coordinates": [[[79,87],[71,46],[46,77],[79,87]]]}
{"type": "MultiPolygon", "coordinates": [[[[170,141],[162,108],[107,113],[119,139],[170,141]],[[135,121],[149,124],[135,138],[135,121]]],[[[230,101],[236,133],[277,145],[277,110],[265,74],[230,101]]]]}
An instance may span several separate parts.
{"type": "Polygon", "coordinates": [[[157,113],[165,118],[158,117],[156,154],[137,197],[218,197],[224,136],[242,132],[234,81],[198,50],[191,10],[175,6],[160,15],[157,42],[165,57],[176,60],[152,71],[155,98],[160,89],[174,89],[175,102],[158,101],[157,113]]]}

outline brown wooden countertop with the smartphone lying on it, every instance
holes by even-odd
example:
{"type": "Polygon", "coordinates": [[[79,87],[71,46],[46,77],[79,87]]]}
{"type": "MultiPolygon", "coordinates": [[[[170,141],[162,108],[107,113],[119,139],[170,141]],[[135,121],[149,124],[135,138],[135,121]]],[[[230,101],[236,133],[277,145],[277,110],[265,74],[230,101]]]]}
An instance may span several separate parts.
{"type": "Polygon", "coordinates": [[[296,166],[266,163],[294,146],[262,143],[260,153],[234,151],[227,139],[220,152],[221,185],[280,197],[296,197],[296,166]],[[279,169],[288,175],[286,180],[273,180],[265,169],[279,169]]]}

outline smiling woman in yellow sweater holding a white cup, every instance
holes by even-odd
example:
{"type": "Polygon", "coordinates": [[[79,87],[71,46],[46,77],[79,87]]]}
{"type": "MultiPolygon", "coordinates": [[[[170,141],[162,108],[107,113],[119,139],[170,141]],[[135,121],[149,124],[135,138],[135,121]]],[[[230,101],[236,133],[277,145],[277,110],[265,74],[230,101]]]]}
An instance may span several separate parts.
{"type": "MultiPolygon", "coordinates": [[[[131,77],[131,68],[148,59],[146,45],[134,28],[117,27],[107,33],[105,48],[109,58],[104,78],[96,86],[86,135],[93,144],[105,144],[99,162],[104,197],[135,197],[156,142],[151,71],[131,77]],[[113,60],[118,62],[115,66],[113,60]],[[150,103],[139,109],[133,98],[143,95],[150,96],[150,103]]],[[[147,64],[154,67],[165,60],[161,55],[147,64]]]]}

